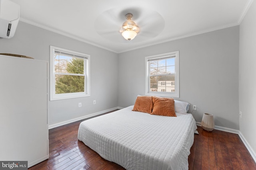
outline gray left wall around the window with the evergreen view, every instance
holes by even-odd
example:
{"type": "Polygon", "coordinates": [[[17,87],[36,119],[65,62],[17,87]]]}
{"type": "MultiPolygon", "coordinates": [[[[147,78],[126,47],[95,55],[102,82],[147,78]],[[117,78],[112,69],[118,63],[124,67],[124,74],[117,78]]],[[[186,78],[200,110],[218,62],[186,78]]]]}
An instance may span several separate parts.
{"type": "Polygon", "coordinates": [[[14,37],[0,38],[0,53],[26,55],[49,62],[50,45],[91,56],[91,96],[50,101],[49,125],[117,107],[118,55],[116,53],[21,21],[14,37]],[[96,100],[96,105],[93,105],[93,100],[96,100]],[[82,103],[82,107],[78,107],[79,102],[82,103]]]}

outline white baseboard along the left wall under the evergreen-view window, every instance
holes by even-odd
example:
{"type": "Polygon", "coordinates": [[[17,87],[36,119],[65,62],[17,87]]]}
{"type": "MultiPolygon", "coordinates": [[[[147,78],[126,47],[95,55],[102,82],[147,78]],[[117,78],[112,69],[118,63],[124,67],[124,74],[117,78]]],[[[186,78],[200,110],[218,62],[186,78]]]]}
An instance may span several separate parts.
{"type": "Polygon", "coordinates": [[[82,119],[86,119],[86,118],[89,118],[89,117],[92,117],[92,116],[96,116],[96,115],[100,115],[100,114],[103,114],[103,113],[106,113],[108,111],[112,111],[112,110],[115,110],[115,109],[120,109],[121,107],[114,107],[112,109],[107,109],[107,110],[104,110],[104,111],[100,111],[100,112],[97,112],[97,113],[92,113],[90,115],[85,115],[85,116],[82,116],[82,117],[77,117],[75,119],[70,119],[70,120],[67,120],[67,121],[62,121],[60,123],[55,123],[53,125],[49,125],[48,128],[49,129],[53,129],[55,127],[59,127],[59,126],[62,126],[62,125],[66,125],[68,123],[73,123],[75,121],[79,121],[79,120],[82,120],[82,119]]]}

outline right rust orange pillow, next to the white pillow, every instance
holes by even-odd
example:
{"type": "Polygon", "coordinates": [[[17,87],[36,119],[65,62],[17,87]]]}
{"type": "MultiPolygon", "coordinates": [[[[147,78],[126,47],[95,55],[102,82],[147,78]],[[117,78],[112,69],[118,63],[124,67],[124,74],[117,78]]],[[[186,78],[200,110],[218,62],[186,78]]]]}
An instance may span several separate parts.
{"type": "Polygon", "coordinates": [[[177,117],[173,98],[161,98],[153,96],[152,100],[154,106],[153,111],[150,114],[177,117]]]}

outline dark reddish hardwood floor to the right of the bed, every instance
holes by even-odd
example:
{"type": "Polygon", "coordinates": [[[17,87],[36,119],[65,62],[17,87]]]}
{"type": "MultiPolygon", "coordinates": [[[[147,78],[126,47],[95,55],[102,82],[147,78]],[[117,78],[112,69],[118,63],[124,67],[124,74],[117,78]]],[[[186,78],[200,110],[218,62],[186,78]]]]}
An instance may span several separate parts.
{"type": "Polygon", "coordinates": [[[256,163],[237,134],[198,127],[188,156],[189,170],[256,170],[256,163]]]}

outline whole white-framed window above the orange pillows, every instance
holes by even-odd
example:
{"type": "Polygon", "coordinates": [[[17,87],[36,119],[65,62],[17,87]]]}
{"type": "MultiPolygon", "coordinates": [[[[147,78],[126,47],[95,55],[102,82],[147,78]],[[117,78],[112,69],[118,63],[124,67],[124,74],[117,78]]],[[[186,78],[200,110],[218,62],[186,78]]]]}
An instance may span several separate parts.
{"type": "Polygon", "coordinates": [[[148,56],[146,95],[179,98],[179,51],[148,56]]]}

